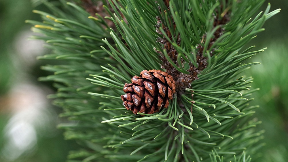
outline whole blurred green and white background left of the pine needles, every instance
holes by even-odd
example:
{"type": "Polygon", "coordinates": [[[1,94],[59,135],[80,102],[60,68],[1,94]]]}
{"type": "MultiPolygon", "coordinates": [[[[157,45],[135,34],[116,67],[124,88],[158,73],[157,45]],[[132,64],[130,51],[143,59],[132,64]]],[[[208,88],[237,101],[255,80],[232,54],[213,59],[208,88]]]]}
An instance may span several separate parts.
{"type": "Polygon", "coordinates": [[[41,41],[28,40],[33,34],[25,20],[39,20],[32,10],[48,11],[31,0],[0,0],[0,161],[66,161],[74,141],[63,139],[57,129],[61,109],[46,96],[54,93],[51,83],[38,82],[50,75],[40,70],[52,64],[36,60],[47,54],[41,41]],[[35,3],[33,3],[35,4],[35,3]]]}

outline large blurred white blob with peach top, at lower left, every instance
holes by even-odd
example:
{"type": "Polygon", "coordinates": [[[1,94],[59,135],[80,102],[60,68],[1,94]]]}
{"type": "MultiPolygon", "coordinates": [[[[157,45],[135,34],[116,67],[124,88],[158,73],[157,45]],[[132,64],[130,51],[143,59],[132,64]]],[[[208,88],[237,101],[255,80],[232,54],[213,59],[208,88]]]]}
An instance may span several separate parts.
{"type": "Polygon", "coordinates": [[[33,150],[37,136],[56,134],[57,114],[47,108],[46,93],[31,84],[18,84],[10,91],[9,105],[14,114],[4,129],[3,159],[15,161],[33,150]]]}

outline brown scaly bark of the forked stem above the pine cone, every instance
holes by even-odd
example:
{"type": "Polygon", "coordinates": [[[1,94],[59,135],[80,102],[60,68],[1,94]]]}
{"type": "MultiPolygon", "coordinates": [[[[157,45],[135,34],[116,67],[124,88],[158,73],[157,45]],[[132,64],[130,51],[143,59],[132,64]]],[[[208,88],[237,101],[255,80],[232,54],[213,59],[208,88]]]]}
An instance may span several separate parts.
{"type": "MultiPolygon", "coordinates": [[[[166,7],[167,7],[167,11],[169,10],[169,0],[163,0],[166,7]]],[[[227,2],[226,2],[227,3],[227,2]]],[[[224,28],[222,27],[224,24],[226,24],[230,18],[229,18],[229,9],[225,9],[223,13],[220,13],[223,10],[223,5],[220,6],[220,11],[216,11],[216,15],[214,16],[214,22],[213,22],[213,26],[220,26],[215,33],[213,34],[214,37],[212,37],[210,40],[206,40],[206,34],[204,34],[202,36],[202,44],[205,44],[206,41],[209,41],[208,44],[208,48],[210,49],[212,47],[212,45],[215,43],[215,41],[223,34],[224,32],[224,28]]],[[[161,12],[161,11],[160,11],[161,12]]],[[[164,11],[166,12],[166,11],[164,11]]],[[[164,26],[164,23],[162,23],[161,19],[159,17],[157,18],[157,24],[156,24],[156,32],[159,33],[160,35],[163,35],[163,37],[158,37],[157,41],[161,44],[164,45],[164,49],[166,50],[168,56],[171,58],[171,60],[177,65],[178,61],[177,61],[177,56],[178,56],[178,52],[176,51],[175,47],[173,47],[173,45],[169,42],[168,39],[170,39],[170,41],[172,41],[172,37],[174,38],[174,40],[176,40],[176,44],[179,45],[181,43],[181,35],[177,34],[177,35],[172,35],[171,33],[175,33],[170,32],[169,28],[167,26],[164,26]],[[160,31],[160,26],[162,27],[162,29],[164,30],[165,33],[162,33],[160,31]],[[168,37],[164,36],[167,35],[168,37]]],[[[170,23],[170,26],[174,27],[174,30],[176,28],[176,24],[173,20],[173,17],[170,17],[170,22],[166,22],[166,23],[170,23]]],[[[189,74],[183,74],[181,72],[179,72],[178,70],[176,70],[175,67],[173,67],[168,60],[164,57],[164,54],[162,54],[160,51],[156,51],[158,53],[160,53],[160,59],[162,60],[162,68],[166,69],[167,73],[169,75],[172,75],[173,79],[176,82],[176,92],[177,95],[180,98],[180,95],[184,93],[184,90],[186,88],[190,88],[192,81],[198,79],[198,74],[204,70],[207,65],[208,65],[208,58],[204,56],[205,51],[204,51],[204,47],[201,44],[198,44],[196,46],[197,53],[196,53],[196,63],[197,63],[197,67],[194,66],[192,63],[190,63],[190,68],[187,70],[189,72],[189,74]]],[[[210,52],[210,56],[213,56],[215,54],[214,49],[211,50],[210,52]]],[[[181,58],[181,63],[184,61],[183,58],[181,58]]]]}

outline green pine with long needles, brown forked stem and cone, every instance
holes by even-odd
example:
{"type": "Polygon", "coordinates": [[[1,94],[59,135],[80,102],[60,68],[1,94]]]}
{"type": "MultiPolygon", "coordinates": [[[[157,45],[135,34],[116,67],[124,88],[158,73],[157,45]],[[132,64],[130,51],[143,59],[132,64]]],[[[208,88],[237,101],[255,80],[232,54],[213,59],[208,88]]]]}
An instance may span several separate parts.
{"type": "Polygon", "coordinates": [[[43,1],[52,14],[27,22],[52,51],[39,80],[74,121],[58,125],[81,147],[68,159],[254,161],[263,132],[243,72],[265,48],[244,47],[280,11],[251,18],[263,2],[43,1]]]}

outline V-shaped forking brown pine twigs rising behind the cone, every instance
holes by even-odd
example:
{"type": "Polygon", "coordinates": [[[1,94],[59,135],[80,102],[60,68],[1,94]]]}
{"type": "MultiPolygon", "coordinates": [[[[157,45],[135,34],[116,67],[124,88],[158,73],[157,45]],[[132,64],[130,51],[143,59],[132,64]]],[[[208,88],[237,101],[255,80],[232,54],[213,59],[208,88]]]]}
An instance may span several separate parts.
{"type": "MultiPolygon", "coordinates": [[[[164,0],[164,3],[167,8],[165,8],[165,10],[163,11],[164,13],[161,13],[162,17],[161,18],[159,18],[158,16],[156,17],[158,20],[157,25],[156,25],[156,32],[162,35],[162,37],[158,37],[158,42],[163,44],[164,49],[166,50],[168,56],[171,58],[174,64],[176,64],[179,68],[183,69],[184,58],[180,58],[180,60],[178,60],[179,54],[177,50],[175,49],[175,47],[173,46],[173,44],[171,43],[173,42],[173,40],[176,40],[174,45],[179,46],[181,43],[181,35],[180,33],[177,33],[177,34],[175,33],[177,26],[175,24],[175,21],[173,20],[173,16],[170,16],[170,19],[168,18],[167,22],[162,22],[162,20],[165,20],[165,16],[167,15],[166,12],[170,10],[169,0],[164,0]],[[167,25],[164,25],[164,24],[167,24],[167,25]],[[165,34],[162,33],[162,31],[159,29],[160,26],[162,27],[162,30],[164,31],[165,34]],[[170,32],[170,29],[168,26],[170,26],[171,30],[173,30],[172,32],[170,32]],[[172,34],[174,33],[174,34],[172,35],[171,33],[172,34]]],[[[165,58],[164,54],[161,51],[158,51],[158,50],[156,51],[157,53],[160,54],[161,60],[163,62],[161,67],[166,69],[168,74],[171,74],[173,78],[175,78],[176,87],[177,87],[176,89],[177,89],[178,95],[183,94],[186,88],[190,88],[192,81],[199,79],[197,77],[198,74],[202,70],[204,70],[208,65],[208,62],[207,62],[208,58],[207,58],[206,50],[209,50],[213,46],[213,44],[217,41],[217,39],[219,39],[219,37],[223,35],[223,32],[224,32],[223,25],[225,25],[230,20],[229,15],[230,15],[231,6],[227,4],[228,3],[227,1],[221,2],[221,3],[222,4],[220,5],[220,7],[215,10],[216,15],[214,16],[214,21],[213,21],[213,28],[214,28],[213,30],[215,30],[215,32],[213,33],[212,37],[209,36],[209,38],[206,38],[207,37],[206,33],[203,34],[201,43],[199,43],[196,46],[196,49],[197,49],[196,65],[194,65],[192,62],[189,63],[190,68],[187,70],[187,72],[189,72],[188,74],[181,73],[180,71],[178,71],[174,66],[170,64],[170,62],[165,58]],[[226,8],[223,9],[223,6],[226,6],[226,8]],[[207,47],[207,44],[208,44],[208,47],[207,47]],[[204,47],[205,45],[206,47],[204,47]]],[[[159,6],[159,9],[161,12],[160,6],[159,6]]],[[[209,53],[210,53],[209,57],[212,57],[215,54],[214,49],[210,50],[209,53]]],[[[181,55],[179,57],[181,57],[181,55]]]]}

